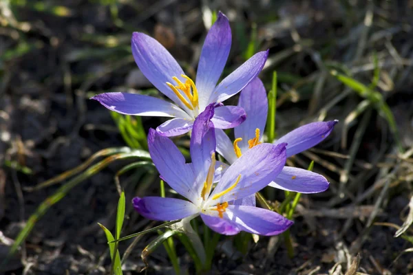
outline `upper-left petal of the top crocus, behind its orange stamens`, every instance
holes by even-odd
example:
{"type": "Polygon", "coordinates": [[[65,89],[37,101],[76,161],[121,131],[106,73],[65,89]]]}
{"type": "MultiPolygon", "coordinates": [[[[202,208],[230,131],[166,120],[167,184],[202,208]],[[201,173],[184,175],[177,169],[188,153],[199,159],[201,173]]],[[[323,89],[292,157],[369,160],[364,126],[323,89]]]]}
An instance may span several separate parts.
{"type": "Polygon", "coordinates": [[[174,83],[172,77],[176,76],[182,82],[185,79],[181,74],[184,74],[182,68],[176,62],[175,58],[169,54],[167,49],[160,45],[158,41],[142,34],[134,32],[131,39],[132,54],[140,71],[162,94],[165,94],[173,102],[176,102],[182,109],[187,110],[187,107],[173,93],[167,82],[174,83]]]}

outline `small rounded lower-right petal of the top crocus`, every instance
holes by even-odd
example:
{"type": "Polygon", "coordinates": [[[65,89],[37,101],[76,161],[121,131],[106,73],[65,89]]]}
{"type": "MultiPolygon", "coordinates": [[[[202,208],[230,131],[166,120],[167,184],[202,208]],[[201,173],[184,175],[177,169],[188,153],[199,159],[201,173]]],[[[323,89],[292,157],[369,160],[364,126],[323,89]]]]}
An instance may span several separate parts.
{"type": "Polygon", "coordinates": [[[215,108],[213,126],[218,129],[231,129],[240,125],[246,119],[244,109],[237,106],[221,106],[215,108]]]}

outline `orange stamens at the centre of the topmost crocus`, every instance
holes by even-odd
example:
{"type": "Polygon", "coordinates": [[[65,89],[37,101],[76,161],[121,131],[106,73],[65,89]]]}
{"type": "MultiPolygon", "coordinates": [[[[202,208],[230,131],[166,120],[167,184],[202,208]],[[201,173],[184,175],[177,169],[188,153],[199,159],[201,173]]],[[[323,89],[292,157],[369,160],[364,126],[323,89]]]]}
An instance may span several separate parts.
{"type": "Polygon", "coordinates": [[[198,107],[198,90],[191,78],[184,74],[181,74],[181,76],[186,79],[185,83],[182,83],[176,76],[173,76],[172,79],[176,81],[177,85],[174,86],[169,82],[167,82],[167,85],[171,88],[173,93],[178,96],[179,100],[188,107],[188,109],[193,111],[198,107]],[[182,91],[183,94],[180,91],[182,91]]]}

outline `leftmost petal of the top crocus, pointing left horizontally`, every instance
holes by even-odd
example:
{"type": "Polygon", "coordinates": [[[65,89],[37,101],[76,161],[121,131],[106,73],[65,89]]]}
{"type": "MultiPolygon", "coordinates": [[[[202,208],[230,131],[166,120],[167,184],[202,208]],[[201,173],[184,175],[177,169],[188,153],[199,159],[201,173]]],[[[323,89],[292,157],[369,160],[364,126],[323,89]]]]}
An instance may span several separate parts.
{"type": "Polygon", "coordinates": [[[116,92],[98,94],[91,99],[98,100],[107,109],[124,115],[190,118],[180,107],[152,96],[116,92]]]}

